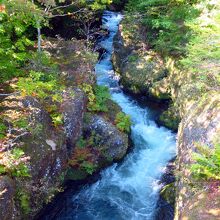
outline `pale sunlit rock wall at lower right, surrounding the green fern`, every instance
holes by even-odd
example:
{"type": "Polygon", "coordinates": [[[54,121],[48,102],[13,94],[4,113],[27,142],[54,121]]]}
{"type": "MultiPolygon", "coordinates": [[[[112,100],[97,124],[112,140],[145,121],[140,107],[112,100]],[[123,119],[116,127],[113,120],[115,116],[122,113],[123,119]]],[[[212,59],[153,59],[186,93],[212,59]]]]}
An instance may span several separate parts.
{"type": "Polygon", "coordinates": [[[195,102],[180,123],[177,172],[181,178],[176,186],[176,219],[219,219],[219,183],[197,182],[193,186],[189,172],[192,153],[197,151],[196,143],[213,148],[213,143],[220,141],[219,103],[219,94],[210,94],[206,99],[195,102]],[[196,184],[202,184],[200,189],[196,189],[196,184]]]}

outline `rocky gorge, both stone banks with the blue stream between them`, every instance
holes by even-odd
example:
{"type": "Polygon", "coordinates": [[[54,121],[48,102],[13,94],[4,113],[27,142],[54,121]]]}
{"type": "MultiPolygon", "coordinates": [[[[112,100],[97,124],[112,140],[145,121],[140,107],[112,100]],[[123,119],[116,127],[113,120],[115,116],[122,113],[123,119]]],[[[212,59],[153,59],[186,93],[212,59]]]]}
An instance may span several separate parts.
{"type": "Polygon", "coordinates": [[[0,219],[219,219],[219,180],[192,172],[220,142],[217,55],[183,68],[125,2],[98,10],[99,54],[58,16],[42,58],[0,85],[0,219]]]}

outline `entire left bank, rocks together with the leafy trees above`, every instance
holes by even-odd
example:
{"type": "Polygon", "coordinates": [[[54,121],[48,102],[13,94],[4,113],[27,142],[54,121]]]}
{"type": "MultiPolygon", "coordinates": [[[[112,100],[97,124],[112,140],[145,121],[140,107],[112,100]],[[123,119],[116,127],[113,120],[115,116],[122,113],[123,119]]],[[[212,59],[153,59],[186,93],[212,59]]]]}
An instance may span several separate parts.
{"type": "Polygon", "coordinates": [[[110,3],[0,1],[1,219],[33,218],[61,190],[68,168],[85,178],[125,155],[127,134],[111,118],[120,108],[108,116],[115,103],[94,75],[93,41],[103,34],[98,15],[110,3]],[[74,25],[71,40],[46,35],[56,18],[74,25]],[[101,122],[95,126],[105,138],[102,146],[83,121],[86,111],[101,122]]]}

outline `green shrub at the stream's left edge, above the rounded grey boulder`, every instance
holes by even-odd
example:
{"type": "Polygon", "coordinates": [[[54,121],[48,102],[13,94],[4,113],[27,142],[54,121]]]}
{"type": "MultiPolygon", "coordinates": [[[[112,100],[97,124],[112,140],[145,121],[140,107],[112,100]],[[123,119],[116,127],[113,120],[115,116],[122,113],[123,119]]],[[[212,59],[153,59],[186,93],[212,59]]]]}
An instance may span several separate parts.
{"type": "Polygon", "coordinates": [[[94,112],[107,112],[108,108],[106,101],[110,99],[110,93],[106,86],[95,86],[93,89],[91,85],[83,84],[82,90],[87,94],[89,103],[88,110],[94,112]]]}

